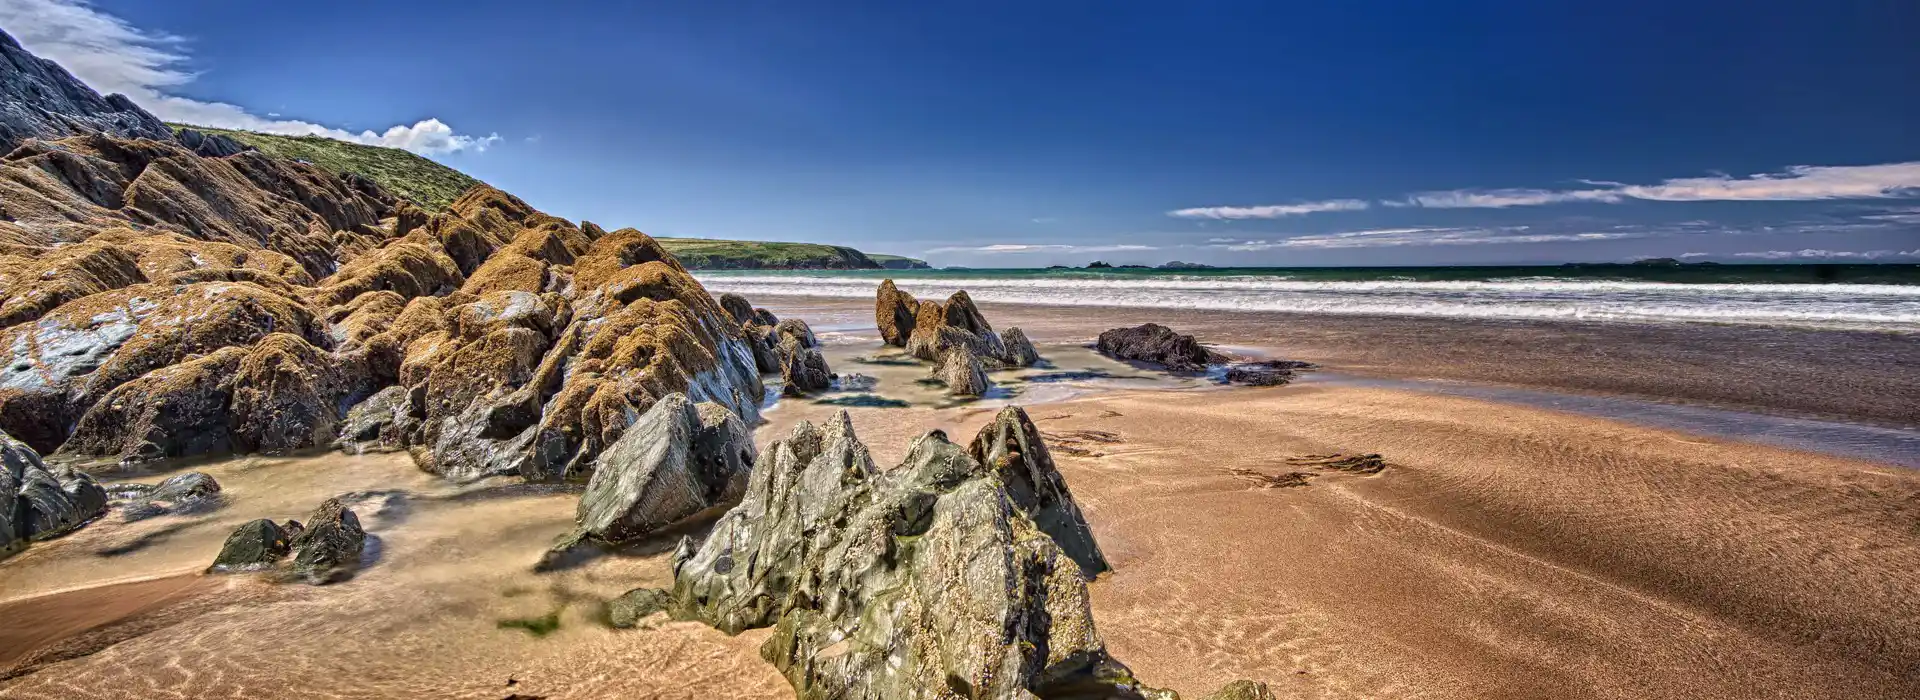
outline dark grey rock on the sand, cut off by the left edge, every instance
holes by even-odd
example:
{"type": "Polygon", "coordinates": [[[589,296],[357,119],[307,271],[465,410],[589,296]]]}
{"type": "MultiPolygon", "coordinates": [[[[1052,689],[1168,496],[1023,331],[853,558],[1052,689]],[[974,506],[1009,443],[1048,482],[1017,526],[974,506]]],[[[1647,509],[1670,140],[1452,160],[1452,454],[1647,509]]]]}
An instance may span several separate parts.
{"type": "Polygon", "coordinates": [[[79,529],[106,510],[108,493],[94,478],[50,470],[33,447],[0,433],[0,558],[79,529]]]}

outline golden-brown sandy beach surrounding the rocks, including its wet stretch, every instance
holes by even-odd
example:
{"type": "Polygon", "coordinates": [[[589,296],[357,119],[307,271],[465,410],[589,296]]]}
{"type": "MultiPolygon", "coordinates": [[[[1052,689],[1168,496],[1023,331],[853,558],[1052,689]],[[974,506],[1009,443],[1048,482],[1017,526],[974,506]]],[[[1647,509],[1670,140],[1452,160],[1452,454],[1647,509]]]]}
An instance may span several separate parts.
{"type": "MultiPolygon", "coordinates": [[[[877,393],[924,372],[858,362],[877,347],[872,305],[756,301],[810,320],[835,370],[877,376],[877,393]]],[[[891,466],[925,430],[972,435],[996,405],[1027,405],[1114,564],[1089,587],[1100,633],[1156,685],[1202,696],[1258,679],[1283,698],[1920,694],[1920,472],[1415,389],[1131,378],[1135,368],[1077,349],[1104,326],[1160,320],[1338,372],[1899,426],[1916,395],[1914,372],[1901,374],[1916,362],[1908,336],[1755,345],[1751,328],[1398,322],[1402,336],[1375,336],[1392,341],[1363,341],[1384,330],[1350,318],[983,311],[1023,326],[1064,370],[1104,376],[1035,380],[979,403],[845,410],[891,466]],[[1699,341],[1651,341],[1663,334],[1699,341]],[[1388,466],[1352,474],[1319,455],[1380,455],[1388,466]]],[[[756,441],[841,408],[781,401],[756,441]]],[[[680,533],[532,573],[570,524],[566,489],[453,487],[403,455],[196,468],[228,485],[228,508],[102,522],[0,566],[0,610],[38,616],[31,635],[4,618],[0,696],[791,696],[755,633],[597,623],[601,600],[668,579],[680,533]],[[353,581],[196,573],[234,524],[300,516],[346,491],[365,491],[380,539],[378,564],[353,581]],[[526,621],[547,616],[551,631],[530,633],[526,621]]]]}

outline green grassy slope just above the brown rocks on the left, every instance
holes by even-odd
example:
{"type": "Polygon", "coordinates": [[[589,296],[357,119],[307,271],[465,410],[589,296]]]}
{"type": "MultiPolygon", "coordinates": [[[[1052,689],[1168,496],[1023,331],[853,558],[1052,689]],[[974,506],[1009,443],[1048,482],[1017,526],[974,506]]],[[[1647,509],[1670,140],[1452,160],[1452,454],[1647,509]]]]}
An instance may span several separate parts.
{"type": "Polygon", "coordinates": [[[361,176],[378,182],[386,188],[386,192],[413,199],[413,203],[426,211],[447,209],[447,205],[451,205],[461,192],[467,192],[467,188],[480,182],[467,173],[397,148],[349,144],[324,136],[280,136],[192,125],[169,127],[175,130],[194,128],[207,134],[228,136],[253,146],[267,155],[303,159],[332,173],[359,173],[361,176]]]}

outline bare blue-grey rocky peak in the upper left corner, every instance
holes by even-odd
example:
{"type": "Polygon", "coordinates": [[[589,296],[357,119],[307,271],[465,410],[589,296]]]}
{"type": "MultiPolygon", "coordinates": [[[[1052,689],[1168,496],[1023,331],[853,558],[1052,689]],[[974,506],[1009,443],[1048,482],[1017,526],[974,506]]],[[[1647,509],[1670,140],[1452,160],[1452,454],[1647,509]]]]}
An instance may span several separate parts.
{"type": "Polygon", "coordinates": [[[157,117],[119,94],[106,98],[60,63],[29,54],[0,31],[0,152],[27,138],[109,132],[127,138],[173,138],[157,117]]]}

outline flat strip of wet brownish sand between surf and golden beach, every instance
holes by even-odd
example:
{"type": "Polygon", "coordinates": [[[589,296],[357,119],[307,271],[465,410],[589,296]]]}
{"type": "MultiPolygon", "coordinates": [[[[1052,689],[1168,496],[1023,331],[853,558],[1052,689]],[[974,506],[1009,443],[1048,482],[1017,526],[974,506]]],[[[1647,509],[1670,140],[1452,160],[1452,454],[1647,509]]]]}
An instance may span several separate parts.
{"type": "MultiPolygon", "coordinates": [[[[753,297],[824,328],[874,330],[870,299],[753,297]]],[[[1327,370],[1920,428],[1920,334],[1707,322],[1490,320],[979,303],[996,328],[1089,343],[1158,322],[1227,351],[1327,370]]],[[[858,334],[858,332],[856,332],[858,334]]]]}

